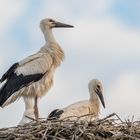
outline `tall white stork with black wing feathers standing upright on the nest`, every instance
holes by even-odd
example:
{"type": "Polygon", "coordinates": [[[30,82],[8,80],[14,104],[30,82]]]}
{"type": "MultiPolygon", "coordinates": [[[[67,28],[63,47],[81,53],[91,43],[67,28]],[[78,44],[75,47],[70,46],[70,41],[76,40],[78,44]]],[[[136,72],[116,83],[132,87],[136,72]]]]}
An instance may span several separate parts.
{"type": "Polygon", "coordinates": [[[0,107],[7,106],[21,96],[24,98],[25,113],[20,124],[27,122],[26,115],[38,119],[37,99],[51,88],[55,69],[64,58],[64,52],[52,34],[52,28],[57,27],[73,26],[43,19],[40,28],[45,45],[36,54],[13,64],[0,79],[1,83],[5,82],[0,89],[0,107]]]}

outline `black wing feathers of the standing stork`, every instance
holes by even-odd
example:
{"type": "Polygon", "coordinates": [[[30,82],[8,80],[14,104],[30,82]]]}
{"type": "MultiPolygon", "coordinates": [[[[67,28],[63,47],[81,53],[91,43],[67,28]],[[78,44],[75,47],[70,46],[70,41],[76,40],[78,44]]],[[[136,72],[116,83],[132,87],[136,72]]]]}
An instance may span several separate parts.
{"type": "Polygon", "coordinates": [[[15,66],[11,67],[11,71],[7,72],[3,79],[8,78],[6,83],[0,89],[0,106],[12,95],[14,92],[20,90],[21,88],[28,86],[31,82],[36,82],[40,80],[44,74],[32,74],[32,75],[17,75],[13,73],[15,66]]]}

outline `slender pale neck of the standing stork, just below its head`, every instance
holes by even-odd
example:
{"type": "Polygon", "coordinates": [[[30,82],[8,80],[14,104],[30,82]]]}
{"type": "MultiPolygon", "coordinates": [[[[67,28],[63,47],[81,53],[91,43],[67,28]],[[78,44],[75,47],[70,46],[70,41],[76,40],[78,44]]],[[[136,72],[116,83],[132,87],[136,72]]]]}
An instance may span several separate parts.
{"type": "Polygon", "coordinates": [[[52,33],[52,29],[47,28],[47,29],[43,32],[43,34],[44,34],[44,37],[45,37],[45,41],[46,41],[47,43],[54,43],[54,42],[56,42],[56,40],[55,40],[55,38],[54,38],[54,36],[53,36],[53,33],[52,33]]]}

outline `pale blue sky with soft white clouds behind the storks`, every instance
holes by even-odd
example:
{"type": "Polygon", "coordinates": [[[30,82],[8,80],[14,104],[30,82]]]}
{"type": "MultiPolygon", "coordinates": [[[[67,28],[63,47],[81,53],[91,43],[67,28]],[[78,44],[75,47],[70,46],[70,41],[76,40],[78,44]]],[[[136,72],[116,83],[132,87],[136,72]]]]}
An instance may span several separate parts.
{"type": "MultiPolygon", "coordinates": [[[[139,7],[139,0],[1,0],[0,77],[44,45],[39,23],[53,18],[75,28],[53,30],[65,60],[39,100],[42,117],[88,99],[88,82],[97,78],[106,103],[100,117],[116,112],[122,119],[140,119],[139,7]]],[[[22,98],[0,108],[0,128],[17,125],[23,113],[22,98]]]]}

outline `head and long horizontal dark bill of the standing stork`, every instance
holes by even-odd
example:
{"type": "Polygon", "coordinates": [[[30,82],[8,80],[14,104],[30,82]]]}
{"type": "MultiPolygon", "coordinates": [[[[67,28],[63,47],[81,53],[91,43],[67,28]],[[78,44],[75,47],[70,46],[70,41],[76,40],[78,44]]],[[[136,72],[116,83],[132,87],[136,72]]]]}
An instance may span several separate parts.
{"type": "Polygon", "coordinates": [[[43,19],[40,22],[40,28],[41,28],[42,31],[44,31],[46,28],[52,29],[52,28],[58,28],[58,27],[72,28],[74,26],[55,21],[51,18],[43,19]]]}

